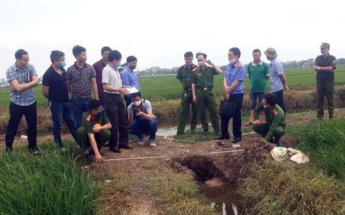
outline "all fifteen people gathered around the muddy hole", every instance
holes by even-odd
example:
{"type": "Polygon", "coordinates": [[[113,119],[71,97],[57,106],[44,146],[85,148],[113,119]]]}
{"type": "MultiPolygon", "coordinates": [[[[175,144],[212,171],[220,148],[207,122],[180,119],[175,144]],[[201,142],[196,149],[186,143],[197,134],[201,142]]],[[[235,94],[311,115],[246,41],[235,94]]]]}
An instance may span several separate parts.
{"type": "MultiPolygon", "coordinates": [[[[322,43],[322,55],[315,60],[317,72],[317,118],[324,118],[324,97],[327,98],[329,118],[334,118],[334,70],[336,58],[329,55],[329,43],[322,43]]],[[[250,120],[243,126],[253,125],[253,130],[265,140],[281,145],[280,138],[285,134],[285,105],[283,92],[289,90],[283,65],[277,60],[274,48],[265,50],[270,64],[261,60],[261,52],[253,50],[253,62],[245,66],[240,62],[240,49],[228,50],[228,66],[223,79],[224,99],[235,103],[233,115],[233,139],[236,145],[242,139],[241,109],[243,103],[243,82],[245,76],[250,79],[250,120]],[[270,93],[265,94],[266,82],[270,79],[270,93]],[[265,121],[264,121],[265,115],[265,121]]],[[[75,63],[65,67],[65,54],[59,50],[51,52],[51,66],[43,75],[42,94],[48,99],[53,120],[53,136],[60,150],[65,150],[61,140],[61,126],[65,121],[71,135],[85,150],[85,158],[92,162],[102,162],[100,148],[109,142],[114,153],[121,153],[121,148],[133,149],[128,144],[129,133],[139,138],[139,145],[144,145],[149,136],[149,145],[156,146],[157,118],[152,114],[151,103],[142,99],[139,81],[134,73],[137,58],[127,57],[126,67],[120,73],[122,55],[117,50],[105,46],[101,50],[102,59],[94,65],[86,63],[86,49],[80,45],[73,48],[75,63]],[[128,89],[137,92],[129,94],[128,89]],[[94,99],[92,99],[92,91],[94,99]],[[124,101],[122,96],[124,95],[124,101]],[[85,114],[84,114],[85,113],[85,114]]],[[[37,148],[37,109],[33,87],[39,79],[35,67],[29,64],[29,55],[25,50],[17,50],[16,62],[9,67],[6,78],[10,83],[11,103],[9,105],[9,124],[6,128],[6,151],[13,150],[14,137],[22,116],[28,124],[28,150],[33,155],[41,155],[37,148]]],[[[201,119],[203,135],[208,135],[206,109],[211,117],[215,139],[230,139],[228,123],[230,117],[218,116],[218,106],[213,94],[213,75],[222,70],[205,53],[197,53],[198,65],[193,64],[193,53],[184,55],[185,64],[179,67],[177,79],[183,87],[181,112],[176,135],[184,134],[186,120],[191,106],[191,133],[194,133],[197,118],[201,119]]]]}

